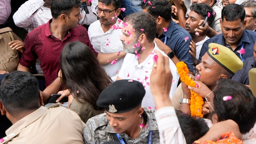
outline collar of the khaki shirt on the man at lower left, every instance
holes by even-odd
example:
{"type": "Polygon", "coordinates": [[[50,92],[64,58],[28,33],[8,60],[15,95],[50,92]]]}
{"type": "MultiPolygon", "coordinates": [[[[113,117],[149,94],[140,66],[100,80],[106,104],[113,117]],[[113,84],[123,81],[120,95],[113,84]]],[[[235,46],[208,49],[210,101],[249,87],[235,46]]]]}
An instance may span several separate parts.
{"type": "Polygon", "coordinates": [[[23,117],[17,123],[14,123],[8,130],[6,130],[6,135],[10,135],[13,132],[22,130],[26,128],[29,124],[35,122],[37,119],[42,117],[48,109],[41,106],[39,109],[35,110],[26,117],[23,117]]]}

